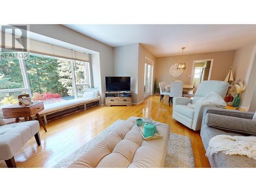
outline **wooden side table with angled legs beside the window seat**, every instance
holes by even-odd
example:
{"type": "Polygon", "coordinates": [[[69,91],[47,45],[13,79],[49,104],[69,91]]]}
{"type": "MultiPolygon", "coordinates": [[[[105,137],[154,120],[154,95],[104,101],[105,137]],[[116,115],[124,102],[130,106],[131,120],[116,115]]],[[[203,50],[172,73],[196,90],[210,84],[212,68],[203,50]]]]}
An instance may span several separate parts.
{"type": "Polygon", "coordinates": [[[3,108],[3,116],[5,119],[8,118],[16,118],[16,123],[19,122],[19,117],[24,117],[25,121],[31,121],[33,116],[36,116],[39,123],[44,128],[45,132],[47,132],[47,129],[45,127],[44,122],[42,122],[42,119],[40,115],[38,114],[40,111],[44,110],[44,103],[34,102],[32,105],[28,106],[22,106],[18,104],[14,104],[11,106],[7,106],[6,108],[3,108]]]}

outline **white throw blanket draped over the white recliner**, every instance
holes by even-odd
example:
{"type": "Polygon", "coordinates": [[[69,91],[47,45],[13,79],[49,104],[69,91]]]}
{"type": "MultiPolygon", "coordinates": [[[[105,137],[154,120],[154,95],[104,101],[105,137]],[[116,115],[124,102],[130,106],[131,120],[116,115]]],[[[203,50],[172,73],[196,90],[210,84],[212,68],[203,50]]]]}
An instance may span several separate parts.
{"type": "Polygon", "coordinates": [[[219,106],[219,108],[225,108],[227,106],[226,102],[223,100],[223,98],[215,92],[207,93],[203,98],[199,99],[195,103],[191,104],[188,103],[187,105],[190,106],[190,108],[196,108],[197,104],[204,104],[204,103],[211,103],[219,106]]]}

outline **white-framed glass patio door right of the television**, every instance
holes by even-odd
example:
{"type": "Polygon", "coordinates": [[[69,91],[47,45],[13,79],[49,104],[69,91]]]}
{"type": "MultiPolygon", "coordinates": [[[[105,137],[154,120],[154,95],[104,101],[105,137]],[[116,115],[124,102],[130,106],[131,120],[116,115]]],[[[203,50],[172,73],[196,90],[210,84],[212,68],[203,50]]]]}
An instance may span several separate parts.
{"type": "Polygon", "coordinates": [[[153,83],[153,62],[145,59],[144,68],[144,98],[152,95],[152,83],[153,83]]]}

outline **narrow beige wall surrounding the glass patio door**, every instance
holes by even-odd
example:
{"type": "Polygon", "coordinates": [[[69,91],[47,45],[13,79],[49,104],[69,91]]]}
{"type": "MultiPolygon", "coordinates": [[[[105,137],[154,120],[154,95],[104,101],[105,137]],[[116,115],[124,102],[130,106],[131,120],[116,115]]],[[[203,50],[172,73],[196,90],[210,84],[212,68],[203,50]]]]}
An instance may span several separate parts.
{"type": "Polygon", "coordinates": [[[144,96],[144,68],[145,68],[145,57],[152,60],[153,63],[153,82],[152,82],[152,93],[154,93],[154,79],[156,71],[157,58],[150,51],[139,44],[139,68],[138,68],[138,103],[143,101],[144,96]]]}

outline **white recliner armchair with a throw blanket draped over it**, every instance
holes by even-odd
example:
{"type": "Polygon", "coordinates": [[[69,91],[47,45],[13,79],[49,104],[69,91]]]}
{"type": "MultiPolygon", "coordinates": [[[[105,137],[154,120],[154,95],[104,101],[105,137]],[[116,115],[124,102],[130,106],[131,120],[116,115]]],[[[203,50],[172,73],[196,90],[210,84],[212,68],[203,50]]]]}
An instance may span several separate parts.
{"type": "Polygon", "coordinates": [[[229,83],[225,81],[202,81],[193,99],[187,97],[174,97],[173,99],[173,118],[186,125],[190,129],[198,131],[201,129],[203,111],[206,107],[215,107],[215,104],[203,103],[197,104],[195,109],[187,104],[194,104],[197,100],[203,98],[207,93],[216,92],[222,98],[225,97],[229,83]]]}

